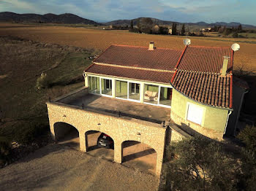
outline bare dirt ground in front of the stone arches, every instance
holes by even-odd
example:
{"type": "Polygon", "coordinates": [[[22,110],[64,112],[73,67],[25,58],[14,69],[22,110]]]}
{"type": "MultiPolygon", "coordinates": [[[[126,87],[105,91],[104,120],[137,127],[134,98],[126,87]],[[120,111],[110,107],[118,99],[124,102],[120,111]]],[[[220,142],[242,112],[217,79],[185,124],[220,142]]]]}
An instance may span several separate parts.
{"type": "Polygon", "coordinates": [[[157,179],[124,165],[50,144],[0,169],[0,190],[157,190],[157,179]]]}

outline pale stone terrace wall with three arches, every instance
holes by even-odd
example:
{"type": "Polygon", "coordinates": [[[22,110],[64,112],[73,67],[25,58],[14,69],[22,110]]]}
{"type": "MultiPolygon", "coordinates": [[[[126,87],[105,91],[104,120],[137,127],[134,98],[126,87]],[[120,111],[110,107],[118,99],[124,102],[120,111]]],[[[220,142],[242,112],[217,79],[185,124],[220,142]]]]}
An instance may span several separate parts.
{"type": "Polygon", "coordinates": [[[47,106],[50,132],[54,139],[56,138],[56,130],[54,129],[56,122],[65,122],[78,130],[80,150],[83,152],[88,150],[88,147],[86,147],[86,132],[97,130],[106,133],[114,141],[114,160],[117,163],[122,163],[122,143],[124,141],[139,141],[147,144],[157,152],[157,175],[160,175],[162,171],[165,145],[170,144],[170,141],[178,141],[184,137],[184,134],[178,132],[175,128],[171,128],[171,125],[171,129],[168,130],[169,133],[166,133],[166,127],[162,127],[162,125],[154,122],[137,120],[130,117],[118,117],[116,114],[90,109],[85,110],[78,106],[57,102],[48,102],[47,106]],[[166,141],[169,142],[167,143],[166,141]]]}

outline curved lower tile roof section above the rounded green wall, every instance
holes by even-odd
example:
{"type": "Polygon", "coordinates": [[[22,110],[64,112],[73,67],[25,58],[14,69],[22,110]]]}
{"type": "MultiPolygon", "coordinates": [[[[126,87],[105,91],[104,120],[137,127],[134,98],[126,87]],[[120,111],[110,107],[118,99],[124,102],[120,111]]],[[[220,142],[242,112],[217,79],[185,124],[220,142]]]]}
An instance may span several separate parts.
{"type": "Polygon", "coordinates": [[[230,76],[178,70],[172,84],[176,90],[195,101],[211,106],[230,107],[230,76]]]}

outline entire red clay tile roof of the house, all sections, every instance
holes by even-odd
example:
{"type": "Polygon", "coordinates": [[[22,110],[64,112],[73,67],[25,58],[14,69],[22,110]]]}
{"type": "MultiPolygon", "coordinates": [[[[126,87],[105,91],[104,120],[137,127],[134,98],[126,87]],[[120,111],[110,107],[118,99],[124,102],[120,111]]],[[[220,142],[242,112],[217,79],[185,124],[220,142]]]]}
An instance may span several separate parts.
{"type": "Polygon", "coordinates": [[[203,104],[232,108],[233,50],[229,47],[185,47],[167,50],[112,45],[86,73],[171,83],[176,90],[203,104]],[[223,56],[229,56],[227,76],[220,77],[223,56]]]}

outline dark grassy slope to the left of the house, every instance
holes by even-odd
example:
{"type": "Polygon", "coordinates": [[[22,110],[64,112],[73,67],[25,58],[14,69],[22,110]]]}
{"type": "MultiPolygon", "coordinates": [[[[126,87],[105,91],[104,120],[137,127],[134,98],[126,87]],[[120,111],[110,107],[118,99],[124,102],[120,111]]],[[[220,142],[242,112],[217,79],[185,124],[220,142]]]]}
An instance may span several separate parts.
{"type": "Polygon", "coordinates": [[[83,86],[82,73],[91,64],[91,53],[0,36],[0,143],[5,139],[29,143],[39,133],[38,127],[48,131],[45,101],[83,86]],[[38,89],[42,72],[47,74],[48,88],[38,89]]]}

